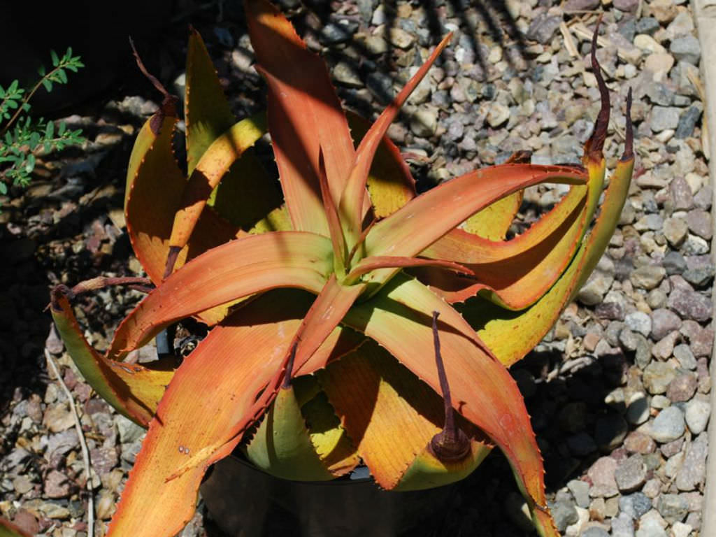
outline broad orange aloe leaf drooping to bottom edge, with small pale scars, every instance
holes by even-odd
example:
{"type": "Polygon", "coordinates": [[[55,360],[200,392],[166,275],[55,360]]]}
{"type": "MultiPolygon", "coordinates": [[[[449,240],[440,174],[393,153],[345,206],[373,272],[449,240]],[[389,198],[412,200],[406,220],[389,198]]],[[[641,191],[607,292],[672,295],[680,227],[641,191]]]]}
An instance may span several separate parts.
{"type": "MultiPolygon", "coordinates": [[[[231,453],[278,390],[281,359],[308,304],[297,291],[263,295],[222,321],[184,360],[150,423],[110,536],[170,537],[181,531],[193,515],[205,470],[231,453]]],[[[340,347],[343,333],[330,332],[316,351],[321,361],[340,347]]]]}

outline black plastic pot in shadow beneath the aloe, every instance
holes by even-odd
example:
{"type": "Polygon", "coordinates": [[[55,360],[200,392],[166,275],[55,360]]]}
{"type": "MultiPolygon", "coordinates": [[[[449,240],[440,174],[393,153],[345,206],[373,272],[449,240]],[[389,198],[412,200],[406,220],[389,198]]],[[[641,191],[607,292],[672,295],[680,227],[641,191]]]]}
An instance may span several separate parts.
{"type": "Polygon", "coordinates": [[[445,521],[454,485],[380,490],[372,478],[287,481],[231,456],[201,485],[211,517],[230,536],[431,537],[445,521]]]}

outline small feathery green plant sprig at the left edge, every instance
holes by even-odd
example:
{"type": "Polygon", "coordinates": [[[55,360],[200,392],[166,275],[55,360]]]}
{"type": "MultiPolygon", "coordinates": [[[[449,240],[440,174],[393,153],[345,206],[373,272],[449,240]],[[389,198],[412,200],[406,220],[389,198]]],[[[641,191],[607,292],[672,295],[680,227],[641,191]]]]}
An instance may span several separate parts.
{"type": "Polygon", "coordinates": [[[67,71],[77,72],[84,64],[79,56],[72,56],[72,49],[59,57],[50,51],[52,69],[44,65],[37,70],[40,79],[32,89],[20,87],[13,80],[9,87],[0,86],[0,195],[5,195],[8,185],[25,187],[35,168],[37,155],[47,155],[71,145],[84,142],[82,130],[69,130],[64,121],[57,128],[53,121],[43,117],[34,119],[28,115],[30,100],[40,87],[52,92],[53,84],[67,84],[67,71]]]}

